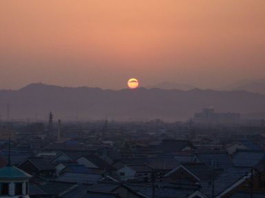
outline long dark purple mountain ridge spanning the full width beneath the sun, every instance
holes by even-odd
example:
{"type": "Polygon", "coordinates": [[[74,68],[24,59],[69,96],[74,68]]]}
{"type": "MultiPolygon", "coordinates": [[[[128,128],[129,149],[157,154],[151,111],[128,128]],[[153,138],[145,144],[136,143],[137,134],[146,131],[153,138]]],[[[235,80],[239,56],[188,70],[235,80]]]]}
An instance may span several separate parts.
{"type": "Polygon", "coordinates": [[[40,83],[19,90],[0,91],[2,119],[10,103],[10,118],[57,118],[115,120],[185,120],[204,107],[221,112],[265,112],[265,95],[246,91],[190,91],[166,89],[99,89],[58,87],[40,83]]]}

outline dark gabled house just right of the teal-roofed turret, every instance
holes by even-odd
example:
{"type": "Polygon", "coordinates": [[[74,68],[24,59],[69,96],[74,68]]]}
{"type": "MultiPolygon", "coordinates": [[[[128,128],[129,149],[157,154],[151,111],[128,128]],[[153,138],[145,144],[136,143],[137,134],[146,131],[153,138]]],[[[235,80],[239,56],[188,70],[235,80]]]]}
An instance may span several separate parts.
{"type": "Polygon", "coordinates": [[[34,177],[52,177],[55,175],[55,166],[50,164],[48,159],[42,157],[28,157],[17,167],[34,177]]]}

